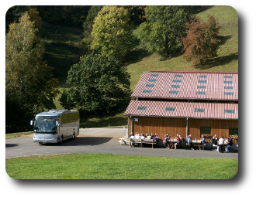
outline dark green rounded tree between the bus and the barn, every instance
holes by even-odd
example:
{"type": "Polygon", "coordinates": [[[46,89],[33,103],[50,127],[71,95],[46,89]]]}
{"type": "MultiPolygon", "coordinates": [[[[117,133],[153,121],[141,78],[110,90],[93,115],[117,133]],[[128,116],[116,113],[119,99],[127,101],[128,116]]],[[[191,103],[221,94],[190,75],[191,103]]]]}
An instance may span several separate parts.
{"type": "Polygon", "coordinates": [[[130,97],[130,74],[112,56],[82,56],[68,71],[68,90],[62,93],[61,105],[108,114],[130,97]]]}

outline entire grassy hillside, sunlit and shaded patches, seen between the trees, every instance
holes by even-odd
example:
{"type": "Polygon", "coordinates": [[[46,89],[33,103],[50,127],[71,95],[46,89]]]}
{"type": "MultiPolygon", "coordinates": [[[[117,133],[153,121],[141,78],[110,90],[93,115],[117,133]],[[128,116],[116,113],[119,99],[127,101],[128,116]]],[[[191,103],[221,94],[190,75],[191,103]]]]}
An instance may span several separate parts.
{"type": "MultiPolygon", "coordinates": [[[[128,65],[131,75],[131,90],[134,90],[140,76],[144,71],[169,70],[169,71],[215,71],[215,72],[238,72],[238,15],[230,6],[213,6],[204,12],[200,12],[202,20],[207,20],[207,13],[219,19],[221,46],[218,56],[206,62],[205,66],[194,66],[186,63],[182,56],[161,60],[156,53],[141,57],[128,65]]],[[[44,41],[47,49],[47,60],[50,66],[54,67],[54,76],[58,77],[60,83],[58,88],[65,87],[67,71],[74,63],[78,63],[79,57],[84,54],[81,40],[83,29],[70,27],[44,25],[44,41]]],[[[136,33],[136,31],[134,31],[136,33]]],[[[57,108],[62,108],[55,100],[57,108]]],[[[126,117],[123,113],[111,117],[82,118],[81,127],[107,127],[108,125],[125,125],[126,117]]]]}

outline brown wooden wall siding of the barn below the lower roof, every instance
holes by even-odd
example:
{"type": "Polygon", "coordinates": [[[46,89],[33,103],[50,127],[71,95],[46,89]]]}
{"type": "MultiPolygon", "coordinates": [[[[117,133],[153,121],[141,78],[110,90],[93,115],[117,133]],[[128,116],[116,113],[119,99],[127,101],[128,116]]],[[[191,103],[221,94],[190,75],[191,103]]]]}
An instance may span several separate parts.
{"type": "MultiPolygon", "coordinates": [[[[140,134],[158,134],[162,139],[164,134],[169,134],[172,137],[176,137],[176,134],[181,134],[183,138],[186,138],[186,121],[185,118],[172,118],[172,117],[136,117],[138,121],[132,121],[128,117],[129,134],[133,129],[133,133],[140,134]],[[133,125],[132,125],[133,122],[133,125]]],[[[238,121],[227,120],[209,120],[209,119],[192,119],[189,118],[189,133],[192,135],[192,139],[200,138],[200,127],[211,127],[211,135],[217,135],[220,137],[229,136],[229,128],[238,128],[238,121]]],[[[210,138],[206,138],[209,142],[210,138]]],[[[238,144],[237,140],[234,140],[234,144],[238,144]]]]}

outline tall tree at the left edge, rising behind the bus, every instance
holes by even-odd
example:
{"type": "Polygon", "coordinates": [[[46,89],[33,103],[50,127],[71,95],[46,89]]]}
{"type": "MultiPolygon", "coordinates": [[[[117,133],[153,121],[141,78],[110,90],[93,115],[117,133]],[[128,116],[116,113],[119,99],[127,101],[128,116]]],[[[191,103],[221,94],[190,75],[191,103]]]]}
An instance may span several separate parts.
{"type": "Polygon", "coordinates": [[[19,23],[9,25],[5,38],[6,125],[29,123],[38,111],[55,107],[53,87],[57,79],[43,62],[44,49],[37,31],[27,13],[19,23]]]}

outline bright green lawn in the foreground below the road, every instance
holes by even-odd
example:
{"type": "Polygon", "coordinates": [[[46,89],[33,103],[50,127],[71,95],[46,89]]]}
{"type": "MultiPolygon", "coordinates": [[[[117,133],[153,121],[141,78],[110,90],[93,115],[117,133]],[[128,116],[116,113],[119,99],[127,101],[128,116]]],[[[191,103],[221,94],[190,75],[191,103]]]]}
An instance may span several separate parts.
{"type": "Polygon", "coordinates": [[[237,174],[238,159],[36,155],[8,158],[5,169],[15,179],[230,179],[237,174]]]}

